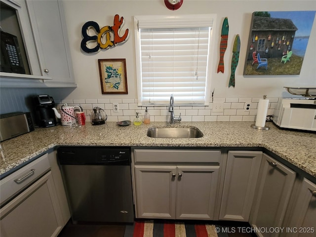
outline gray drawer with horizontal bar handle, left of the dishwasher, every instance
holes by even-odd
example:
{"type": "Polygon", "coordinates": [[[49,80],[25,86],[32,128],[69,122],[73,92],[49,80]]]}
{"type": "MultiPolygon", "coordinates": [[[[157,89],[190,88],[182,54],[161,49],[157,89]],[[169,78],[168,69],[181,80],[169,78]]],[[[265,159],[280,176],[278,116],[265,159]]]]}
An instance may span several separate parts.
{"type": "Polygon", "coordinates": [[[1,206],[9,198],[14,197],[26,186],[38,179],[45,171],[49,170],[48,154],[27,164],[4,179],[0,180],[1,206]]]}

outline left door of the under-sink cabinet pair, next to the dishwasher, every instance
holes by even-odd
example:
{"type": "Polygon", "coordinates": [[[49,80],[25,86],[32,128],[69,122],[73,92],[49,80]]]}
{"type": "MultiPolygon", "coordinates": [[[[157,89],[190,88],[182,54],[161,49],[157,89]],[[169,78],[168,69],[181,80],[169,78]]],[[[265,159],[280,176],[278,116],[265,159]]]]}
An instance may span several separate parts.
{"type": "Polygon", "coordinates": [[[135,165],[136,218],[175,219],[176,166],[135,165]]]}

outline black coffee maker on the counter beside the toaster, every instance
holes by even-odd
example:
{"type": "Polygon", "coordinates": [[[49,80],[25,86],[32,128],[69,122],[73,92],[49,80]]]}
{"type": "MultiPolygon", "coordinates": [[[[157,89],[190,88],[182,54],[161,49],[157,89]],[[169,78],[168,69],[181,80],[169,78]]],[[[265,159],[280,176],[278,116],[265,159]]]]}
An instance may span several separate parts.
{"type": "Polygon", "coordinates": [[[53,97],[49,95],[38,95],[33,97],[33,103],[35,106],[35,120],[39,127],[51,127],[56,126],[57,121],[53,108],[55,108],[55,102],[53,97]]]}

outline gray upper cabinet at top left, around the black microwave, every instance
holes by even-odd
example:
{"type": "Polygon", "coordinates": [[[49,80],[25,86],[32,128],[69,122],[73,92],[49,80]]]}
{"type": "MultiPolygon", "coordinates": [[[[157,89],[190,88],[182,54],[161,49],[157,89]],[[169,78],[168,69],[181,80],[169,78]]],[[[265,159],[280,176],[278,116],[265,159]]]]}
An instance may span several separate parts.
{"type": "Polygon", "coordinates": [[[62,1],[1,1],[16,10],[30,67],[1,72],[1,87],[76,87],[62,1]]]}

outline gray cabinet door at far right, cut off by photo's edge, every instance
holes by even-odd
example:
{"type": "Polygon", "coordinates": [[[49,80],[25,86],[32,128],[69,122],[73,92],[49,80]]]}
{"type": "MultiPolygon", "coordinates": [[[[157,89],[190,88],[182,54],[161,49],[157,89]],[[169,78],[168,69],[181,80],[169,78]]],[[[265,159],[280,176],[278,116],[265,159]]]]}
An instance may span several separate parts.
{"type": "Polygon", "coordinates": [[[290,237],[308,237],[316,233],[316,184],[306,178],[303,179],[288,227],[286,236],[290,237]]]}

